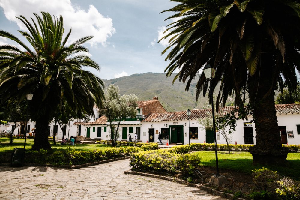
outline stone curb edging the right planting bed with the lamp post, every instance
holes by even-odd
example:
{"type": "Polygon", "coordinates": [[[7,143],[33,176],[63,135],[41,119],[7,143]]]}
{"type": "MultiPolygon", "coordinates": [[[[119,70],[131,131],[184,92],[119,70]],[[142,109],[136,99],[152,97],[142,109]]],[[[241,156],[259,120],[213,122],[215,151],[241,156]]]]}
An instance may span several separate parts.
{"type": "Polygon", "coordinates": [[[131,171],[131,170],[125,171],[124,174],[140,175],[140,176],[158,178],[158,179],[167,180],[167,181],[173,181],[173,182],[176,182],[176,183],[187,185],[189,187],[199,188],[201,190],[204,190],[206,192],[209,192],[211,194],[214,194],[214,195],[217,195],[217,196],[220,196],[220,197],[224,197],[224,198],[229,199],[229,200],[245,200],[243,198],[234,197],[233,194],[228,194],[228,193],[224,193],[224,192],[214,190],[211,187],[205,186],[205,184],[200,184],[199,185],[199,184],[189,183],[187,181],[184,181],[182,179],[175,178],[175,177],[171,178],[171,177],[167,177],[167,176],[149,174],[149,173],[144,173],[144,172],[135,172],[135,171],[131,171]]]}

